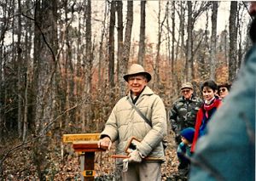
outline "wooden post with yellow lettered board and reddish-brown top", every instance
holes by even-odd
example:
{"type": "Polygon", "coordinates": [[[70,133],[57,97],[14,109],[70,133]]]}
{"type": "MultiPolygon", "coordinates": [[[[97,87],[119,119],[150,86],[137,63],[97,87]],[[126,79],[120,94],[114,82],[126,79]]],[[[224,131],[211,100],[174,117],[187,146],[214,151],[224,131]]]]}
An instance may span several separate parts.
{"type": "Polygon", "coordinates": [[[105,151],[98,148],[99,136],[99,133],[64,134],[62,138],[63,143],[72,143],[73,149],[76,152],[81,152],[80,156],[84,167],[81,174],[84,176],[84,180],[87,181],[93,181],[96,174],[94,170],[95,152],[105,151]]]}

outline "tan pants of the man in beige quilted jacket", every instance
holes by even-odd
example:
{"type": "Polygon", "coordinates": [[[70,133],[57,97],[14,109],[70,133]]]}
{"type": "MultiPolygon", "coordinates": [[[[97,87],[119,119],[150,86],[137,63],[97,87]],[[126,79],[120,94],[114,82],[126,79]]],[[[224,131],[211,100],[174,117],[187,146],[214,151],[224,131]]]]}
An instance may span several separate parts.
{"type": "Polygon", "coordinates": [[[128,171],[122,173],[123,181],[160,181],[161,164],[159,162],[129,163],[128,171]]]}

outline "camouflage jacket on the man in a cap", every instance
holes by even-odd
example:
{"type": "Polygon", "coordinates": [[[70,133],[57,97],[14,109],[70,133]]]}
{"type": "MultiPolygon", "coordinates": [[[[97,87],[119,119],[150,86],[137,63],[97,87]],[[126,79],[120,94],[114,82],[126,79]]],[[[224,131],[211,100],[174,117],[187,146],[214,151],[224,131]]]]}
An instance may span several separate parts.
{"type": "Polygon", "coordinates": [[[172,130],[179,134],[186,127],[195,127],[196,113],[202,105],[203,100],[194,95],[191,99],[177,99],[169,112],[172,130]]]}

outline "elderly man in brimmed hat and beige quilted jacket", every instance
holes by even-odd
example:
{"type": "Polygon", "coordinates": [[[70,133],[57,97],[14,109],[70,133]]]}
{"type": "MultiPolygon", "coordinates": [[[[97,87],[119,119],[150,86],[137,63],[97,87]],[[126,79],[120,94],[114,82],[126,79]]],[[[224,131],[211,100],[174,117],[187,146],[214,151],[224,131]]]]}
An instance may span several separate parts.
{"type": "MultiPolygon", "coordinates": [[[[129,164],[128,170],[122,173],[122,179],[161,180],[160,164],[165,161],[162,140],[167,130],[165,105],[148,88],[151,75],[144,71],[142,65],[131,65],[124,79],[128,83],[129,94],[113,107],[98,146],[109,149],[116,141],[116,153],[125,155],[125,147],[135,137],[139,142],[132,146],[129,158],[125,160],[129,164]]],[[[122,167],[122,164],[123,161],[117,159],[117,167],[122,167]]]]}

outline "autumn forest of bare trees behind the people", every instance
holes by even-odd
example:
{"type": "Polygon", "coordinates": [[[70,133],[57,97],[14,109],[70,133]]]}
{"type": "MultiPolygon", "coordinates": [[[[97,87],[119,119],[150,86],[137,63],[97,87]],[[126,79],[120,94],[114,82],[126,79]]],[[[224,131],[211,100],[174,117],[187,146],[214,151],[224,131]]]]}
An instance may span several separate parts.
{"type": "Polygon", "coordinates": [[[251,44],[244,2],[4,0],[0,12],[0,178],[10,180],[79,179],[61,137],[102,131],[132,63],[169,110],[183,82],[198,95],[207,79],[233,82],[251,44]]]}

